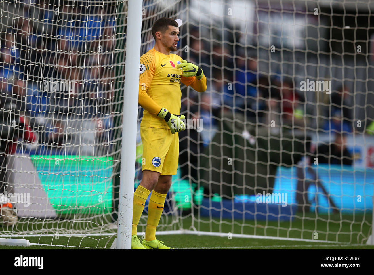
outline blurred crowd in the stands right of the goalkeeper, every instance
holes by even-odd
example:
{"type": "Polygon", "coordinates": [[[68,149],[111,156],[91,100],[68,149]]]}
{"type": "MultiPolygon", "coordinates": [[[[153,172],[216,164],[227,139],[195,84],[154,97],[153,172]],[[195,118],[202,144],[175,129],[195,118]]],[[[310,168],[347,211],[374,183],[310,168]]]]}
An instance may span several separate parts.
{"type": "MultiPolygon", "coordinates": [[[[204,129],[214,132],[225,113],[231,113],[242,114],[252,125],[264,127],[344,134],[355,130],[350,99],[353,92],[347,83],[341,82],[332,91],[316,116],[308,113],[306,94],[300,91],[300,83],[291,77],[281,77],[280,73],[261,72],[258,56],[249,49],[230,45],[230,39],[211,45],[201,39],[208,34],[198,29],[191,29],[190,34],[196,39],[190,38],[189,53],[181,55],[203,68],[208,89],[201,95],[191,90],[188,95],[185,93],[182,109],[202,118],[204,129]],[[312,117],[317,120],[314,128],[310,123],[312,117]]],[[[212,134],[201,134],[207,146],[212,134]]]]}

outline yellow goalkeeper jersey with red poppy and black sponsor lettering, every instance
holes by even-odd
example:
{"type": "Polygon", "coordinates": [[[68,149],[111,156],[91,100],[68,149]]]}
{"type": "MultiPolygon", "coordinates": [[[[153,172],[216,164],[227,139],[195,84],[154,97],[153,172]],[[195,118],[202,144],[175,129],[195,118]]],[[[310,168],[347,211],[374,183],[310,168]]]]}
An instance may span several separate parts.
{"type": "MultiPolygon", "coordinates": [[[[182,82],[188,86],[196,81],[194,76],[182,77],[182,69],[177,68],[181,60],[182,58],[179,55],[162,54],[154,48],[142,55],[139,71],[139,97],[141,97],[141,92],[146,91],[146,94],[154,103],[160,106],[159,110],[163,107],[169,110],[170,113],[179,115],[181,110],[180,83],[182,82]]],[[[206,78],[205,76],[203,78],[205,79],[206,89],[206,78]]],[[[154,107],[154,104],[152,107],[154,107]]],[[[155,108],[153,109],[155,110],[155,108]]],[[[147,110],[143,112],[140,126],[169,129],[165,120],[147,110]]]]}

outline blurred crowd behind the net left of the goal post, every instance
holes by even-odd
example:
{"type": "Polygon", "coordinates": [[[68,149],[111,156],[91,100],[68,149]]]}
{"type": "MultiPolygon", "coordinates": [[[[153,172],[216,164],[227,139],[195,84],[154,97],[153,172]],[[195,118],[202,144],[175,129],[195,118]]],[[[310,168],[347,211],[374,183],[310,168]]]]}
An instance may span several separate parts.
{"type": "Polygon", "coordinates": [[[38,0],[16,10],[0,37],[1,94],[15,103],[34,142],[57,148],[74,143],[67,131],[74,117],[95,121],[96,142],[105,143],[113,123],[113,11],[38,0]]]}

